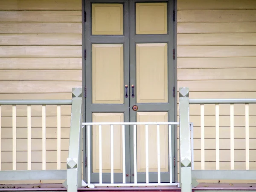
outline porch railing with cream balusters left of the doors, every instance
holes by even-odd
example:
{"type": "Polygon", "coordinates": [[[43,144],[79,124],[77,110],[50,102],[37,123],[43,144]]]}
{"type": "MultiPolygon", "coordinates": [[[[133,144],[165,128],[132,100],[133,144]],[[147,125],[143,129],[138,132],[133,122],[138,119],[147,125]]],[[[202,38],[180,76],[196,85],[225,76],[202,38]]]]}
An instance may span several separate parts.
{"type": "MultiPolygon", "coordinates": [[[[0,180],[1,181],[10,181],[10,180],[65,180],[67,177],[67,171],[61,170],[61,105],[71,105],[72,100],[0,100],[0,180]],[[10,121],[7,120],[6,116],[2,116],[3,113],[7,113],[6,111],[2,111],[3,106],[12,106],[12,119],[10,121]],[[17,128],[20,128],[19,123],[23,124],[23,122],[18,121],[17,118],[20,118],[20,116],[17,116],[17,113],[20,111],[17,110],[17,105],[23,105],[26,106],[26,120],[27,123],[27,150],[23,152],[27,152],[27,162],[22,161],[22,163],[27,163],[27,169],[26,170],[17,170],[17,152],[20,150],[17,150],[17,128]],[[39,105],[41,106],[41,123],[42,123],[42,148],[40,151],[42,151],[42,167],[40,170],[31,170],[32,169],[32,118],[34,118],[34,114],[32,113],[31,106],[39,105]],[[49,105],[56,105],[57,108],[57,167],[54,170],[46,170],[47,165],[47,158],[46,158],[46,106],[49,105]],[[1,119],[3,120],[1,122],[1,119]],[[3,125],[4,124],[4,125],[3,125]],[[3,131],[3,126],[6,126],[8,124],[12,124],[12,170],[6,170],[6,167],[1,167],[1,160],[3,159],[3,156],[1,157],[1,153],[3,146],[6,145],[4,141],[6,141],[6,138],[2,139],[2,137],[6,137],[6,135],[1,134],[1,131],[3,131]],[[5,169],[5,170],[3,170],[5,169]]],[[[24,112],[24,111],[23,111],[24,112]]],[[[38,115],[38,114],[37,114],[38,115]]],[[[22,116],[21,118],[23,118],[22,116]]],[[[5,134],[11,134],[7,133],[5,131],[5,134]]],[[[8,138],[9,140],[10,138],[8,138]]],[[[24,138],[23,138],[24,139],[24,138]]],[[[19,146],[18,146],[19,147],[19,146]]],[[[34,157],[35,158],[35,157],[34,157]]],[[[4,162],[5,165],[8,164],[4,162]]]]}

